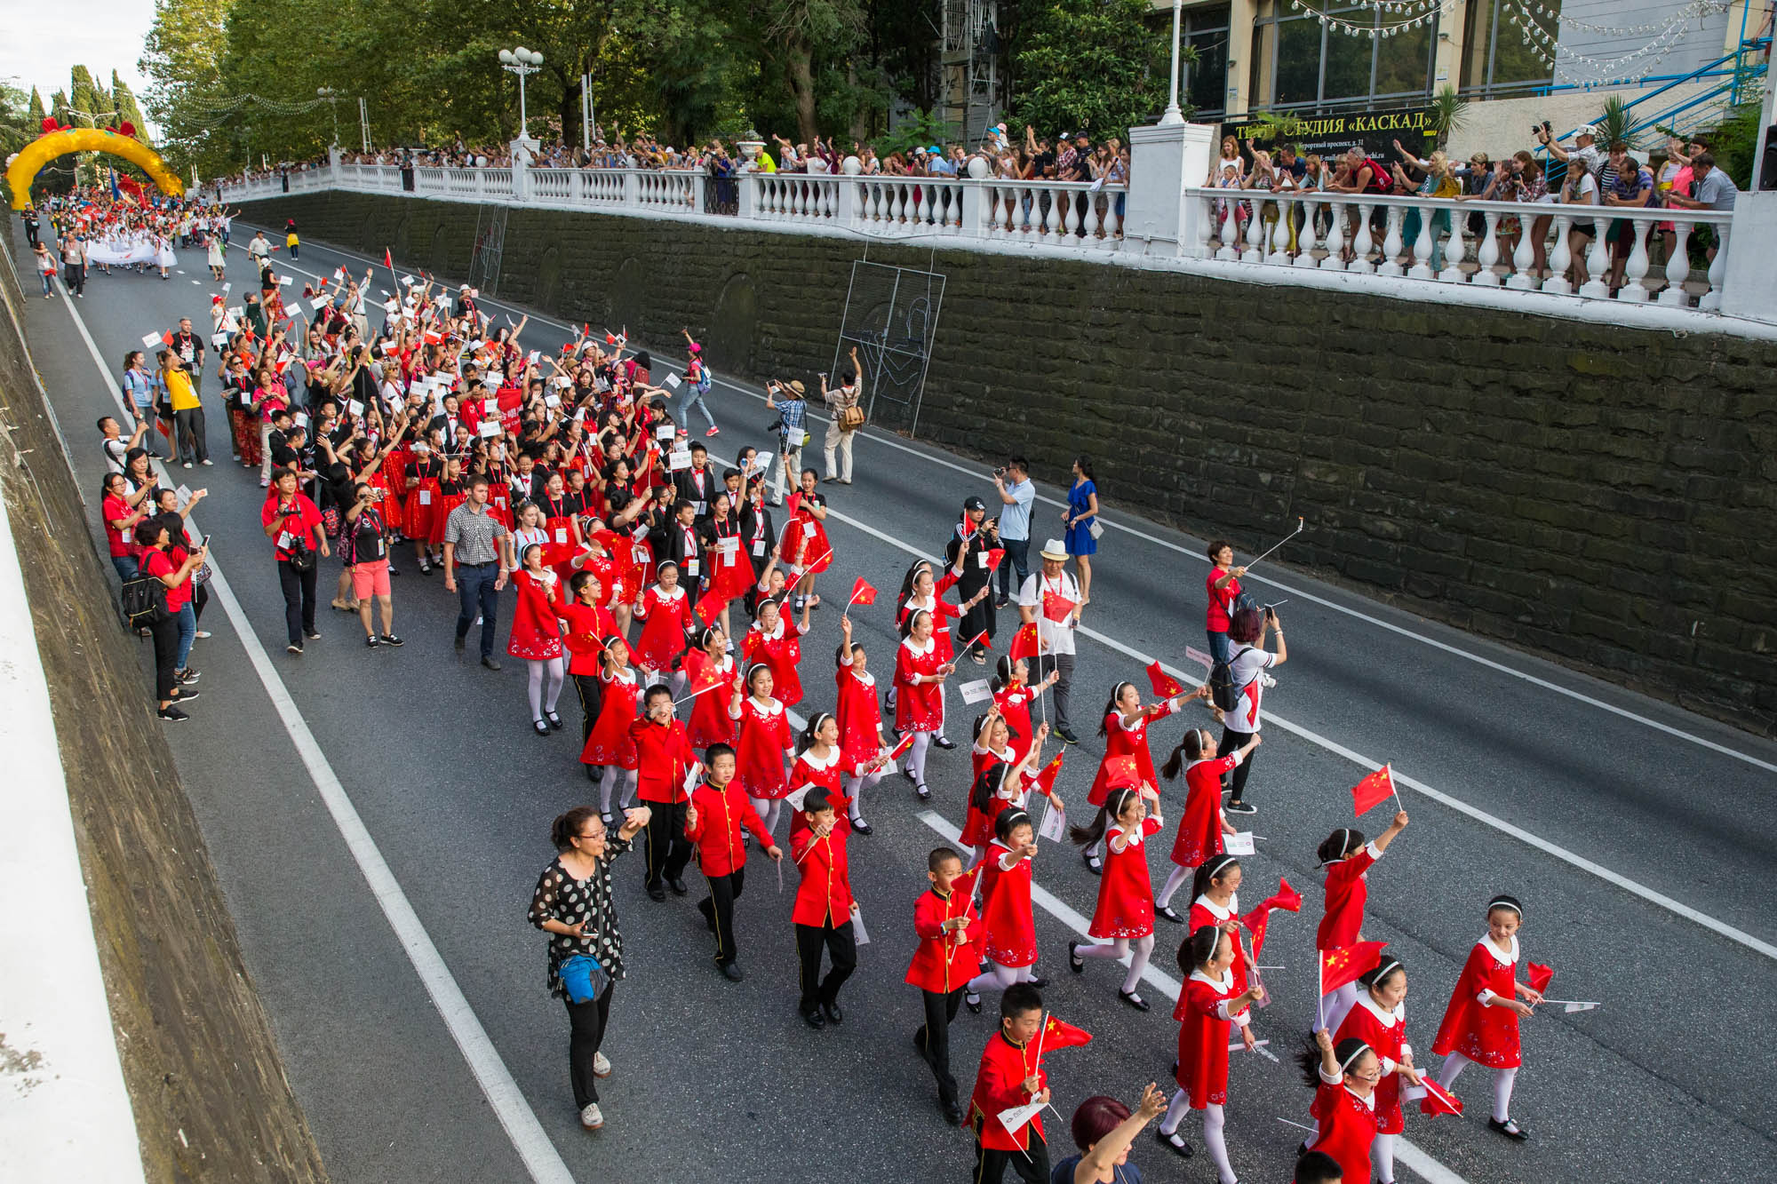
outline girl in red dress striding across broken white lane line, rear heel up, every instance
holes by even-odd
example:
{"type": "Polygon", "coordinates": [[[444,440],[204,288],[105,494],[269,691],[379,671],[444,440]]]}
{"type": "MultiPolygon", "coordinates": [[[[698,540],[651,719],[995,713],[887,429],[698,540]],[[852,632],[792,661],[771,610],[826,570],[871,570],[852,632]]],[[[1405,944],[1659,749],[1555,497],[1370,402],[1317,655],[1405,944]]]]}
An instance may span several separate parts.
{"type": "Polygon", "coordinates": [[[1070,827],[1075,843],[1105,844],[1105,869],[1098,880],[1098,908],[1088,935],[1096,944],[1068,942],[1068,969],[1086,971],[1086,958],[1123,958],[1134,951],[1128,974],[1116,996],[1137,1012],[1148,1010],[1136,987],[1153,956],[1153,884],[1148,880],[1146,839],[1166,825],[1160,818],[1160,798],[1153,796],[1153,814],[1143,789],[1120,786],[1098,809],[1091,827],[1070,827]]]}

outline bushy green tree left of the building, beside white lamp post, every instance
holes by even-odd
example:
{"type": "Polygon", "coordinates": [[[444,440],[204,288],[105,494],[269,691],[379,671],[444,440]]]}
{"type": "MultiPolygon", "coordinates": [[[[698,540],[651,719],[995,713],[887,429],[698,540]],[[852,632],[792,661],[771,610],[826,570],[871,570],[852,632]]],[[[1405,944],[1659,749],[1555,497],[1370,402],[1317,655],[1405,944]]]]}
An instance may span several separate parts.
{"type": "Polygon", "coordinates": [[[1169,34],[1148,0],[1025,0],[1013,60],[1013,119],[1043,135],[1127,135],[1166,107],[1169,34]]]}

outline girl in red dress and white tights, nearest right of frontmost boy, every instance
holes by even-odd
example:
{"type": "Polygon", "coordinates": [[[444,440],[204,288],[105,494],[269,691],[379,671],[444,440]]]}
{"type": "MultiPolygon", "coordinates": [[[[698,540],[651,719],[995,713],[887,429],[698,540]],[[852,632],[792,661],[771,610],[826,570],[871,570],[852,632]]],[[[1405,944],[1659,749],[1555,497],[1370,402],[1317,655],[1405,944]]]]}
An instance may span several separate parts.
{"type": "Polygon", "coordinates": [[[1191,1156],[1191,1143],[1178,1134],[1187,1109],[1203,1111],[1203,1145],[1215,1163],[1221,1184],[1233,1184],[1233,1166],[1228,1163],[1228,1140],[1223,1129],[1228,1122],[1228,1036],[1240,1029],[1240,1042],[1251,1051],[1251,1004],[1265,997],[1265,988],[1244,987],[1235,981],[1231,965],[1235,942],[1214,924],[1205,924],[1178,946],[1178,969],[1185,974],[1185,988],[1178,992],[1173,1019],[1178,1020],[1178,1068],[1166,1116],[1160,1118],[1160,1143],[1180,1156],[1191,1156]]]}

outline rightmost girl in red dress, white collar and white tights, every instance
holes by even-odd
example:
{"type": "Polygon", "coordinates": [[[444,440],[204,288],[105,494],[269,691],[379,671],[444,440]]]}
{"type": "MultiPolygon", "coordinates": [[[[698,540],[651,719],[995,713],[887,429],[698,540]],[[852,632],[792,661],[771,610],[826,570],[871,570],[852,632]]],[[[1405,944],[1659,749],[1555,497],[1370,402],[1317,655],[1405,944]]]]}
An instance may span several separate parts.
{"type": "Polygon", "coordinates": [[[1487,901],[1487,935],[1475,942],[1450,992],[1432,1052],[1445,1058],[1438,1084],[1450,1088],[1470,1061],[1493,1070],[1493,1118],[1487,1125],[1509,1140],[1530,1138],[1512,1120],[1512,1084],[1523,1056],[1518,1020],[1530,1019],[1542,996],[1518,981],[1518,926],[1525,912],[1512,896],[1487,901]]]}

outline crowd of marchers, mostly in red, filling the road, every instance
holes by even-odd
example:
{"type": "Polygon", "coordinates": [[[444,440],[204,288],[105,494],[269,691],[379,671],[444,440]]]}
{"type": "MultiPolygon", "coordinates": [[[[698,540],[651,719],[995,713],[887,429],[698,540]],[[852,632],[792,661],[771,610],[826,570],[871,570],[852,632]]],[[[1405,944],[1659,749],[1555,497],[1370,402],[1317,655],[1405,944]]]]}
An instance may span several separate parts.
{"type": "MultiPolygon", "coordinates": [[[[89,196],[87,220],[110,213],[89,196]]],[[[873,916],[912,908],[904,978],[924,1017],[915,1049],[944,1118],[974,1134],[972,1179],[1000,1180],[1009,1168],[1031,1182],[1139,1180],[1128,1163],[1134,1140],[1159,1120],[1157,1141],[1189,1157],[1183,1125],[1198,1113],[1201,1145],[1221,1184],[1233,1184],[1230,1054],[1276,1060],[1255,1036],[1271,1003],[1260,956],[1271,917],[1301,910],[1303,896],[1288,882],[1256,907],[1242,908],[1239,896],[1247,887],[1251,901],[1244,875],[1260,869],[1233,820],[1258,809],[1249,777],[1263,745],[1263,693],[1290,651],[1276,610],[1242,588],[1246,567],[1228,542],[1207,553],[1208,681],[1185,688],[1155,663],[1148,690],[1121,681],[1102,709],[1082,709],[1072,697],[1073,658],[1102,533],[1089,457],[1075,459],[1066,507],[1047,528],[1031,464],[1009,457],[992,492],[961,501],[942,560],[858,572],[835,555],[826,494],[851,484],[851,436],[867,420],[855,354],[837,386],[821,377],[832,414],[825,476],[801,466],[810,416],[800,380],[769,388],[771,452],[739,448],[718,460],[691,436],[693,409],[709,420],[705,439],[720,432],[702,404],[713,359],[689,332],[684,366],[590,325],[558,350],[531,348],[528,322],[494,316],[467,284],[403,277],[386,260],[386,299],[375,295],[375,268],[341,267],[299,290],[279,274],[277,249],[256,242],[258,279],[240,304],[224,286],[204,332],[187,320],[160,334],[153,361],[131,350],[123,386],[135,421],[100,421],[112,468],[107,542],[126,613],[155,640],[160,716],[183,720],[197,699],[190,652],[208,636],[199,629],[208,548],[187,528],[203,491],[169,489],[153,468],[155,444],[163,439],[172,452],[174,439],[183,448],[192,436],[188,459],[210,464],[201,407],[195,421],[178,421],[179,402],[195,400],[208,377],[233,460],[258,471],[265,489],[259,521],[291,660],[320,636],[322,560],[338,551],[331,603],[357,613],[366,647],[402,645],[389,578],[396,560],[410,562],[410,572],[437,572],[458,597],[464,656],[476,635],[483,665],[501,667],[501,642],[505,658],[526,665],[538,736],[570,731],[560,697],[572,683],[578,763],[597,805],[554,820],[556,857],[537,880],[530,921],[547,933],[547,985],[569,1015],[570,1088],[586,1129],[606,1124],[601,1083],[617,1072],[601,1045],[624,978],[611,880],[622,857],[640,855],[654,901],[689,896],[686,871],[697,868],[695,907],[727,980],[743,978],[741,933],[759,919],[741,903],[748,862],[793,871],[798,1013],[810,1028],[842,1024],[842,988],[867,940],[848,850],[874,830],[865,804],[885,804],[883,780],[899,777],[917,800],[961,798],[965,811],[960,843],[931,850],[919,892],[910,885],[903,901],[869,905],[873,916]],[[878,597],[871,580],[885,576],[897,635],[887,656],[869,654],[853,631],[853,613],[878,597]],[[1018,617],[1009,638],[1000,610],[1018,617]],[[841,622],[832,667],[825,652],[803,652],[814,612],[841,622]],[[965,683],[970,668],[984,677],[965,683]],[[1219,731],[1187,724],[1157,764],[1150,731],[1171,729],[1194,700],[1219,731]],[[979,715],[967,709],[974,702],[979,715]],[[1079,731],[1096,731],[1104,754],[1084,804],[1070,807],[1057,775],[1079,731]],[[970,757],[967,784],[933,784],[931,748],[960,745],[970,757]],[[1176,820],[1160,793],[1173,782],[1182,782],[1176,820]],[[1169,848],[1160,844],[1167,875],[1155,891],[1150,841],[1169,828],[1169,848]],[[1040,841],[1077,844],[1098,876],[1091,940],[1068,942],[1070,972],[1127,956],[1116,997],[1150,1012],[1141,987],[1164,921],[1178,926],[1167,960],[1185,981],[1173,1008],[1171,1095],[1150,1084],[1134,1109],[1088,1099],[1068,1131],[1079,1152],[1054,1164],[1043,1058],[1091,1035],[1043,1004],[1032,889],[1048,850],[1040,841]],[[999,1028],[965,1095],[949,1026],[988,996],[999,1028]]],[[[1358,816],[1390,800],[1388,772],[1352,795],[1358,816]]],[[[1486,932],[1430,1044],[1439,1070],[1422,1068],[1406,1036],[1407,971],[1365,937],[1368,873],[1407,827],[1398,798],[1395,807],[1381,834],[1338,827],[1317,853],[1326,871],[1320,999],[1313,1036],[1295,1056],[1313,1090],[1299,1184],[1393,1180],[1404,1113],[1414,1102],[1427,1116],[1461,1113],[1446,1088],[1470,1063],[1493,1072],[1491,1129],[1526,1138],[1510,1115],[1519,1022],[1542,1001],[1550,971],[1523,956],[1523,905],[1503,894],[1486,901],[1477,917],[1486,932]]]]}

